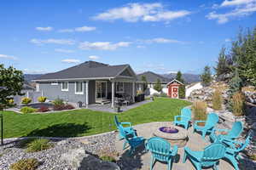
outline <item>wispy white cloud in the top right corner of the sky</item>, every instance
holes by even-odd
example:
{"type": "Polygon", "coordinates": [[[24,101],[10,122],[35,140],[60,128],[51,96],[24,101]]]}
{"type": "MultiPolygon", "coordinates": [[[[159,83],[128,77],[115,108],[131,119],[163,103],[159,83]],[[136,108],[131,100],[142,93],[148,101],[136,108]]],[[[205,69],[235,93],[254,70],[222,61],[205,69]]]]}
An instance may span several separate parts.
{"type": "Polygon", "coordinates": [[[218,14],[213,11],[207,14],[208,20],[217,20],[218,24],[224,24],[230,19],[241,18],[256,12],[256,0],[225,0],[219,5],[219,8],[232,7],[233,9],[224,14],[218,14]]]}

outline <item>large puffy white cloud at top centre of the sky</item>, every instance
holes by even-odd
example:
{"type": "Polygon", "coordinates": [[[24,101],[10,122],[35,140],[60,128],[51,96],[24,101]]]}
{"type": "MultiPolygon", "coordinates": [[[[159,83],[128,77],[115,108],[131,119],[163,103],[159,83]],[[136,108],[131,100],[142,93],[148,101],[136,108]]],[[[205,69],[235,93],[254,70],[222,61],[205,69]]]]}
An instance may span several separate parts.
{"type": "Polygon", "coordinates": [[[170,21],[191,14],[187,10],[166,10],[161,3],[128,3],[124,7],[111,8],[108,11],[97,14],[94,20],[125,20],[137,21],[170,21]]]}

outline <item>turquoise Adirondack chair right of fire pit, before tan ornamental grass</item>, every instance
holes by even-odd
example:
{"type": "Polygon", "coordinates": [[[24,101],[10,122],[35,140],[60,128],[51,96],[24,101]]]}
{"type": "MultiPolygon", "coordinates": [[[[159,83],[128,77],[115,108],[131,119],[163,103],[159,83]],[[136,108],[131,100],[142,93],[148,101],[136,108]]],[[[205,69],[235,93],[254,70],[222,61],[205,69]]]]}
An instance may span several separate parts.
{"type": "Polygon", "coordinates": [[[216,113],[209,113],[207,116],[207,121],[195,121],[194,133],[195,131],[201,131],[202,139],[205,139],[207,133],[212,133],[213,128],[218,123],[218,115],[216,113]],[[204,127],[198,126],[198,122],[206,122],[204,127]]]}

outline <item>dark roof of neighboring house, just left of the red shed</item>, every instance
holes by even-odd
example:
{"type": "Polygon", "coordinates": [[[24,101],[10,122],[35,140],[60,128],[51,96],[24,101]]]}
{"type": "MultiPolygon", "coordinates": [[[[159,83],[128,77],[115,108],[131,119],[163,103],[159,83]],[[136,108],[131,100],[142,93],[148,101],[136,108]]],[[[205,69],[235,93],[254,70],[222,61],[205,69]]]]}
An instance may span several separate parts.
{"type": "Polygon", "coordinates": [[[146,72],[143,72],[141,74],[138,74],[137,75],[137,81],[142,82],[142,77],[143,76],[146,77],[147,82],[152,82],[152,83],[157,82],[157,79],[160,79],[160,82],[162,82],[162,83],[167,83],[167,82],[172,81],[172,79],[162,77],[159,74],[156,74],[152,71],[146,71],[146,72]]]}

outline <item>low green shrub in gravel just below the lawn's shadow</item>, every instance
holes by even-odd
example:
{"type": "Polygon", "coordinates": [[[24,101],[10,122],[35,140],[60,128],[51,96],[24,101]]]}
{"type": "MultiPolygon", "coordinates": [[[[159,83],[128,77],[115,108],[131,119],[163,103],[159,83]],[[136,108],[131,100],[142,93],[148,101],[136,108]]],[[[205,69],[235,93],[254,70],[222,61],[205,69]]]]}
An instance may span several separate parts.
{"type": "Polygon", "coordinates": [[[36,152],[41,150],[47,150],[52,147],[52,144],[49,144],[49,139],[35,139],[27,144],[27,152],[36,152]]]}

